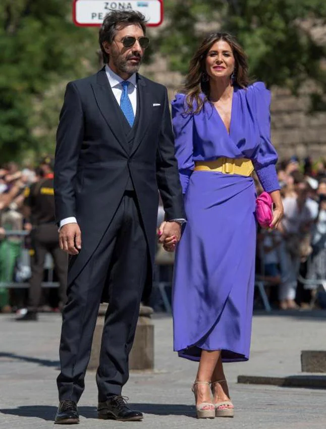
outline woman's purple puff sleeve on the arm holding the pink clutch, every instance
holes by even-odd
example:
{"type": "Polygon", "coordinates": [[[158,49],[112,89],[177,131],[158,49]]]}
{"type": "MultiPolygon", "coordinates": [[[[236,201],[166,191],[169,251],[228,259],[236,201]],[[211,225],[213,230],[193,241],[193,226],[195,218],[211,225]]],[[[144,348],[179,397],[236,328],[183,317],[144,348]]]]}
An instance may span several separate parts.
{"type": "Polygon", "coordinates": [[[280,189],[280,185],[275,168],[278,154],[270,141],[270,91],[266,89],[263,82],[254,83],[251,90],[260,135],[259,147],[252,162],[263,189],[266,192],[273,192],[280,189]]]}

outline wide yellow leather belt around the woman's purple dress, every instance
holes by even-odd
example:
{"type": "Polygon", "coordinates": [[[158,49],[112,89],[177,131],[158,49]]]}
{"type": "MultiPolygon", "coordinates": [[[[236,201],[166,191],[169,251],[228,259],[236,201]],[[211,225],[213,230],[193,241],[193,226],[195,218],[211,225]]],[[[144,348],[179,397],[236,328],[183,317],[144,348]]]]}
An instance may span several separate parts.
{"type": "Polygon", "coordinates": [[[213,161],[196,161],[194,171],[219,171],[224,174],[250,176],[254,167],[250,159],[223,156],[213,161]]]}

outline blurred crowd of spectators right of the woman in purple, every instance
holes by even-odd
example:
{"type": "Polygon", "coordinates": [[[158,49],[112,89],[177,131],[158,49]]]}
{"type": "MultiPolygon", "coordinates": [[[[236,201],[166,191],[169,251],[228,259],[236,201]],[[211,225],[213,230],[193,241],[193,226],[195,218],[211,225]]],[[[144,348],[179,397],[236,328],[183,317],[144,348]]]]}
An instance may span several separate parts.
{"type": "MultiPolygon", "coordinates": [[[[278,165],[284,218],[277,231],[259,230],[258,276],[280,309],[324,306],[326,285],[326,166],[295,156],[278,165]],[[273,286],[273,287],[272,287],[273,286]]],[[[261,188],[257,184],[257,193],[261,188]]]]}

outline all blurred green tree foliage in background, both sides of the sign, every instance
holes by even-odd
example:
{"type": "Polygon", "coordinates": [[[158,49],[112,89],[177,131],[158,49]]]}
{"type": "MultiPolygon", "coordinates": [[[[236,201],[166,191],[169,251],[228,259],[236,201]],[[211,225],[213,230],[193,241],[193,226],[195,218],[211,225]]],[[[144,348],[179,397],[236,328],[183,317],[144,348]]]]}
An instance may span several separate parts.
{"type": "MultiPolygon", "coordinates": [[[[320,89],[313,108],[325,108],[325,46],[312,37],[314,26],[325,23],[325,0],[165,0],[164,6],[165,25],[149,60],[159,53],[172,70],[186,73],[204,32],[231,31],[255,78],[294,93],[311,79],[320,89]]],[[[1,162],[53,150],[66,82],[98,68],[98,29],[76,27],[71,7],[70,0],[0,2],[1,162]]]]}

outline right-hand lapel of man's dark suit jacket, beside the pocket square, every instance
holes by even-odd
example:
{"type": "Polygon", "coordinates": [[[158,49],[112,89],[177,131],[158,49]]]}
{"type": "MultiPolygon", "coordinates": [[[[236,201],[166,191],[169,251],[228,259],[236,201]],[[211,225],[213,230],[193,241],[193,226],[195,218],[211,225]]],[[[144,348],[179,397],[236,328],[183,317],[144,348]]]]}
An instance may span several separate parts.
{"type": "Polygon", "coordinates": [[[140,75],[137,75],[137,91],[139,91],[139,105],[137,106],[139,118],[137,118],[138,121],[137,124],[135,124],[135,140],[131,150],[131,155],[137,150],[145,136],[150,123],[150,114],[152,109],[152,99],[148,87],[145,80],[140,75]]]}

